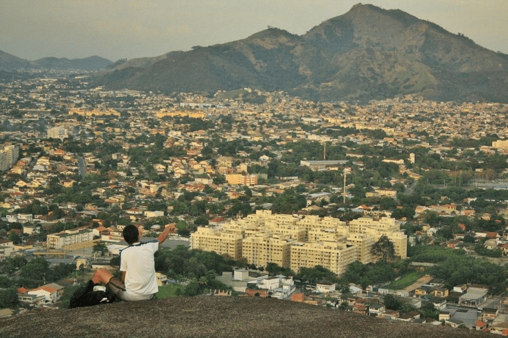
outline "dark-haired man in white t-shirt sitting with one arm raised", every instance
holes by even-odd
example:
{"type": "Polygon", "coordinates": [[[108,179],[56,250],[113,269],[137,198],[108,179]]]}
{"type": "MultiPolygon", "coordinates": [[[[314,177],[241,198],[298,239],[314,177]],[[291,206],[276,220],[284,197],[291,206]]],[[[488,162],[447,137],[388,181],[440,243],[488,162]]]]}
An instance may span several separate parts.
{"type": "Polygon", "coordinates": [[[122,234],[129,246],[120,251],[120,280],[106,269],[98,269],[92,277],[93,283],[108,285],[122,300],[151,299],[158,291],[153,254],[166,241],[169,231],[167,226],[157,239],[143,243],[139,242],[138,228],[126,226],[122,234]]]}

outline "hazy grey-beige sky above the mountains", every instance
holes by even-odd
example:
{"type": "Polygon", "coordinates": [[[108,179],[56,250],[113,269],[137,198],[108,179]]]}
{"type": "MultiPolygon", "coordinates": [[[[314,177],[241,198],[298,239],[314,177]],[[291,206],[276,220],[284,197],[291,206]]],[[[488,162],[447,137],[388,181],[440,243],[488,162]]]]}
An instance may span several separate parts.
{"type": "MultiPolygon", "coordinates": [[[[359,0],[0,0],[0,50],[120,58],[244,39],[273,26],[301,35],[359,0]]],[[[508,54],[508,0],[368,0],[508,54]]]]}

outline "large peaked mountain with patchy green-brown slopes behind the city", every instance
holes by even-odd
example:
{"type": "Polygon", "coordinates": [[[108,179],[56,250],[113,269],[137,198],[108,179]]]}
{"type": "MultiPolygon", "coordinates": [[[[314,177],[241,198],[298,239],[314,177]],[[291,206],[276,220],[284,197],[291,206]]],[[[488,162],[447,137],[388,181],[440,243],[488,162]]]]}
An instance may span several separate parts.
{"type": "Polygon", "coordinates": [[[327,101],[416,94],[508,102],[507,81],[508,55],[400,10],[358,4],[302,36],[268,28],[226,44],[129,60],[95,83],[210,94],[252,87],[327,101]]]}

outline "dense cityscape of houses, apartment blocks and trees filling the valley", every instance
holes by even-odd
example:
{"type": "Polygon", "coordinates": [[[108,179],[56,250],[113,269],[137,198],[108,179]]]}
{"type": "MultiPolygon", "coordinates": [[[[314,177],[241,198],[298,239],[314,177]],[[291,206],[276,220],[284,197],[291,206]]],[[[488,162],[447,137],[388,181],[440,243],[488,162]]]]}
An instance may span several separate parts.
{"type": "Polygon", "coordinates": [[[172,227],[170,293],[505,329],[508,105],[88,81],[0,84],[7,315],[65,307],[134,224],[172,227]]]}

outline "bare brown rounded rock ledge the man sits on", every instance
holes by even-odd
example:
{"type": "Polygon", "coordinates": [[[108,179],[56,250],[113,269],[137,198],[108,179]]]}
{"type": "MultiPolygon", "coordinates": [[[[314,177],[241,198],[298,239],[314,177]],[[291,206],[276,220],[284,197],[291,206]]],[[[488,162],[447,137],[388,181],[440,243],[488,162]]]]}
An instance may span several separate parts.
{"type": "Polygon", "coordinates": [[[289,300],[196,296],[31,311],[0,319],[3,337],[487,337],[289,300]]]}

